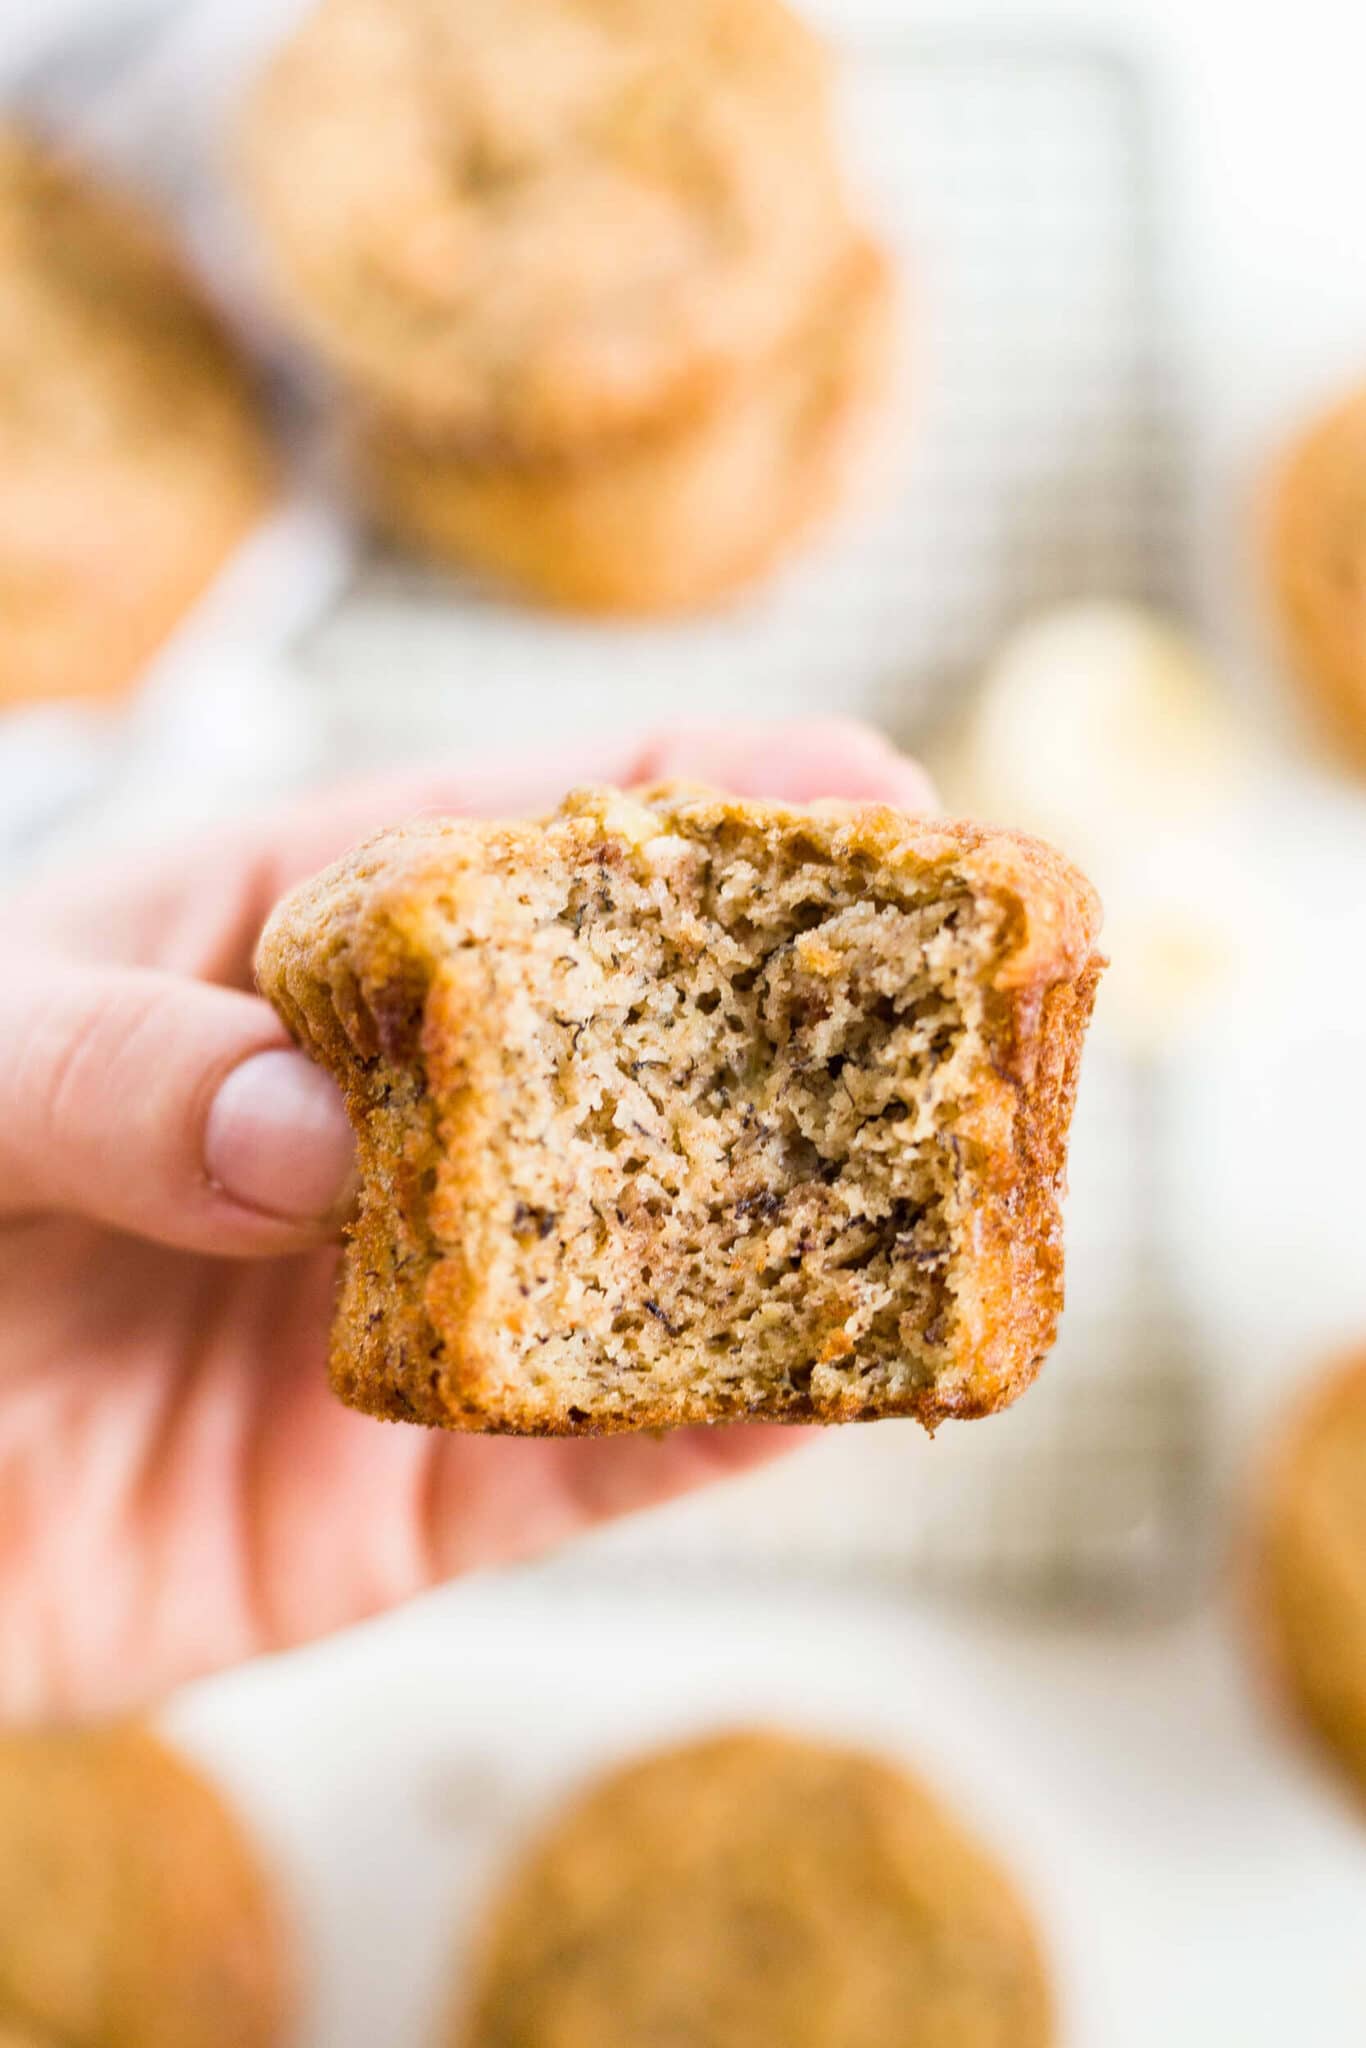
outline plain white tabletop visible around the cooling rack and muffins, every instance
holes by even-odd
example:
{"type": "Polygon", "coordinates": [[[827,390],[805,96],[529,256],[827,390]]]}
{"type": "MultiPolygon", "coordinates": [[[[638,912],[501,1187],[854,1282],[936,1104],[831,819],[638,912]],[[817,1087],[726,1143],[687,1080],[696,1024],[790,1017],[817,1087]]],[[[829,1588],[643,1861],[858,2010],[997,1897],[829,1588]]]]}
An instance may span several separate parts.
{"type": "MultiPolygon", "coordinates": [[[[1366,367],[1366,25],[1327,0],[971,12],[1024,35],[1071,20],[1159,57],[1200,606],[1239,700],[1276,729],[1249,508],[1286,424],[1366,367]]],[[[1190,1104],[1231,1505],[1288,1380],[1366,1331],[1366,991],[1341,967],[1360,977],[1366,958],[1362,801],[1303,764],[1266,791],[1260,834],[1274,950],[1233,999],[1260,1028],[1221,1038],[1221,1081],[1190,1104]]],[[[1225,1585],[1182,1624],[1120,1632],[801,1587],[623,1612],[516,1575],[203,1688],[174,1722],[295,1882],[319,1987],[309,2048],[410,2048],[506,1825],[623,1743],[754,1712],[877,1735],[958,1796],[1038,1898],[1073,2048],[1362,2040],[1366,1829],[1249,1681],[1225,1585]]]]}

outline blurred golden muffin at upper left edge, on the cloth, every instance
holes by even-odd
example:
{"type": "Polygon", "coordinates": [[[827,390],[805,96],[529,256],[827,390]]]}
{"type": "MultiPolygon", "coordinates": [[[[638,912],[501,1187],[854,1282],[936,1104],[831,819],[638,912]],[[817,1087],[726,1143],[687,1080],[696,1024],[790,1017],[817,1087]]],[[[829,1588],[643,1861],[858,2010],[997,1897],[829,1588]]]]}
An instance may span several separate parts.
{"type": "Polygon", "coordinates": [[[129,684],[270,487],[244,369],[162,229],[0,127],[0,705],[129,684]]]}

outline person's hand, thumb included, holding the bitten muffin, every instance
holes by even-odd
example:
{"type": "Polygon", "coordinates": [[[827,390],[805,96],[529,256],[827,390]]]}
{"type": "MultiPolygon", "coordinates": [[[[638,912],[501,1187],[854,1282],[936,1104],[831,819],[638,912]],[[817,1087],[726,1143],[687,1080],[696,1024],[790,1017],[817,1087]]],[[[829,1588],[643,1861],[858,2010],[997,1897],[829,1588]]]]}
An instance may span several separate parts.
{"type": "Polygon", "coordinates": [[[680,774],[924,809],[854,725],[680,731],[428,778],[0,905],[0,1716],[139,1706],[604,1516],[778,1432],[442,1436],[328,1391],[352,1143],[252,989],[266,911],[414,811],[680,774]]]}

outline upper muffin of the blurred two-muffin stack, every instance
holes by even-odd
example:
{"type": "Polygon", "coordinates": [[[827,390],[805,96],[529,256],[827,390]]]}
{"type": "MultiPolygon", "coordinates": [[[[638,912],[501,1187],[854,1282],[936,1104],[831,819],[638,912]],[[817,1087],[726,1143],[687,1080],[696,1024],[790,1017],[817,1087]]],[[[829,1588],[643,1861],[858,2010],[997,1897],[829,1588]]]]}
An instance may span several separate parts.
{"type": "Polygon", "coordinates": [[[782,0],[324,0],[246,117],[281,297],[467,457],[678,420],[848,240],[827,70],[782,0]]]}

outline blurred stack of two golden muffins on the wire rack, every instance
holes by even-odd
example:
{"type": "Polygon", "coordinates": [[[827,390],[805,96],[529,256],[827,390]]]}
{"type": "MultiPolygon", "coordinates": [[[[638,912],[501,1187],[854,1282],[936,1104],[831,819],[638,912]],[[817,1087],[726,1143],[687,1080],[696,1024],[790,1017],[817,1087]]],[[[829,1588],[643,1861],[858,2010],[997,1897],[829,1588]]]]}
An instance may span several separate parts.
{"type": "Polygon", "coordinates": [[[674,610],[836,498],[891,287],[780,0],[324,0],[246,164],[399,537],[674,610]]]}

